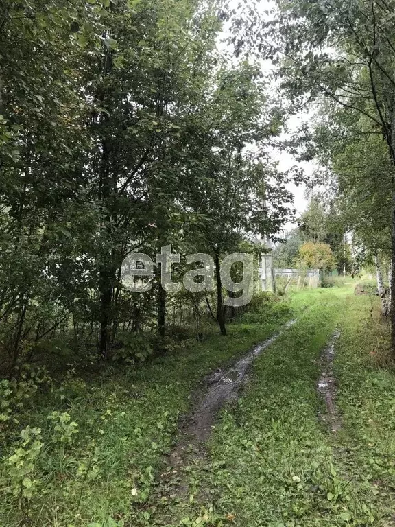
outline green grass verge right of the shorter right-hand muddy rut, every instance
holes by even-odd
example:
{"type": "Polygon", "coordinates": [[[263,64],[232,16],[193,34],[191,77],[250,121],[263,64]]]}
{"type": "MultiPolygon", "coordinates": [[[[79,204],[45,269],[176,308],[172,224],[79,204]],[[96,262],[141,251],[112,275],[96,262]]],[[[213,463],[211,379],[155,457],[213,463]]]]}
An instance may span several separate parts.
{"type": "Polygon", "coordinates": [[[395,526],[395,377],[389,362],[389,323],[379,300],[348,301],[335,360],[344,431],[337,449],[374,525],[395,526]]]}

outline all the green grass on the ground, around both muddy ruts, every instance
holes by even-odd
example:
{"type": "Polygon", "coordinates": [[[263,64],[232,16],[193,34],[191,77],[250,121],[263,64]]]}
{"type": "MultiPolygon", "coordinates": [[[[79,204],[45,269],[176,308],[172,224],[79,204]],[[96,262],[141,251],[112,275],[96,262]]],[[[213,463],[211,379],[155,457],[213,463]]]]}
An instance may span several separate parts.
{"type": "MultiPolygon", "coordinates": [[[[226,338],[187,341],[139,368],[107,367],[84,380],[71,371],[60,383],[44,382],[16,408],[19,423],[3,434],[0,525],[394,526],[388,327],[378,298],[355,296],[354,285],[350,279],[344,287],[293,293],[285,304],[229,325],[226,338]],[[202,376],[292,315],[296,325],[256,359],[241,397],[222,411],[206,457],[185,468],[187,493],[171,494],[160,470],[202,376]],[[315,386],[320,353],[335,327],[341,330],[335,375],[343,429],[332,434],[318,419],[323,403],[315,386]],[[60,417],[47,418],[53,411],[70,416],[58,431],[60,417]],[[27,474],[32,497],[20,500],[21,469],[11,469],[7,459],[27,425],[41,429],[43,447],[27,474]]],[[[27,439],[23,449],[30,452],[32,444],[27,439]]]]}

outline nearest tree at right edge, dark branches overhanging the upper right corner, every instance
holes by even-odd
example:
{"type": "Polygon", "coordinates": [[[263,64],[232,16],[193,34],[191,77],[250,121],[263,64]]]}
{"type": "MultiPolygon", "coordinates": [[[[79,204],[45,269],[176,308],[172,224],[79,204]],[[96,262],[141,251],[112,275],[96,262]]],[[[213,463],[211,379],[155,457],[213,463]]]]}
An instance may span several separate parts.
{"type": "MultiPolygon", "coordinates": [[[[392,269],[395,277],[395,77],[392,1],[278,0],[276,20],[265,32],[280,60],[283,87],[299,101],[329,97],[369,119],[392,163],[392,269]]],[[[395,355],[395,290],[392,289],[395,355]]]]}

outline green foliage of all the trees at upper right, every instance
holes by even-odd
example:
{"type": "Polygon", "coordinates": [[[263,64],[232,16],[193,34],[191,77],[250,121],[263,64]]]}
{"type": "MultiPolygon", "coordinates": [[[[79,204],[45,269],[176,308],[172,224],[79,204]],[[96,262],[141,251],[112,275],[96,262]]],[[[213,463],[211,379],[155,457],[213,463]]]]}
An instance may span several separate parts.
{"type": "MultiPolygon", "coordinates": [[[[395,231],[394,3],[278,0],[276,5],[265,37],[276,43],[268,56],[278,64],[290,110],[298,111],[307,100],[320,106],[294,141],[302,158],[315,156],[324,165],[311,187],[325,185],[343,231],[355,232],[363,257],[375,250],[389,255],[395,231]]],[[[315,223],[319,233],[320,222],[315,223]]],[[[339,256],[334,246],[333,252],[339,256]]],[[[347,266],[348,258],[343,263],[347,266]]]]}

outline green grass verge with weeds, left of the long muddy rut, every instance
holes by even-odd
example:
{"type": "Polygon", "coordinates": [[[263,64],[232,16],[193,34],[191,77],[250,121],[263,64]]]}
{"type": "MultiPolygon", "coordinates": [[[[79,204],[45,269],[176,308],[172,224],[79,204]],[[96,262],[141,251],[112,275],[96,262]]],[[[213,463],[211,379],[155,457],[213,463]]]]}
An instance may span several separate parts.
{"type": "MultiPolygon", "coordinates": [[[[313,296],[300,297],[293,311],[314,301],[313,296]]],[[[191,393],[206,373],[275,333],[291,316],[287,304],[280,305],[269,303],[256,320],[242,318],[229,325],[226,338],[189,340],[136,368],[108,366],[84,379],[70,368],[62,382],[43,382],[38,394],[15,408],[17,422],[10,419],[10,428],[0,425],[0,525],[149,525],[144,504],[180,417],[189,410],[191,393]],[[67,413],[70,421],[64,426],[77,423],[77,433],[67,429],[62,438],[48,419],[54,411],[67,413]],[[8,462],[14,450],[31,453],[34,438],[23,445],[20,437],[27,426],[40,429],[43,447],[31,467],[23,458],[16,469],[8,462]],[[20,499],[20,491],[30,493],[22,483],[26,475],[32,495],[20,499]]]]}

